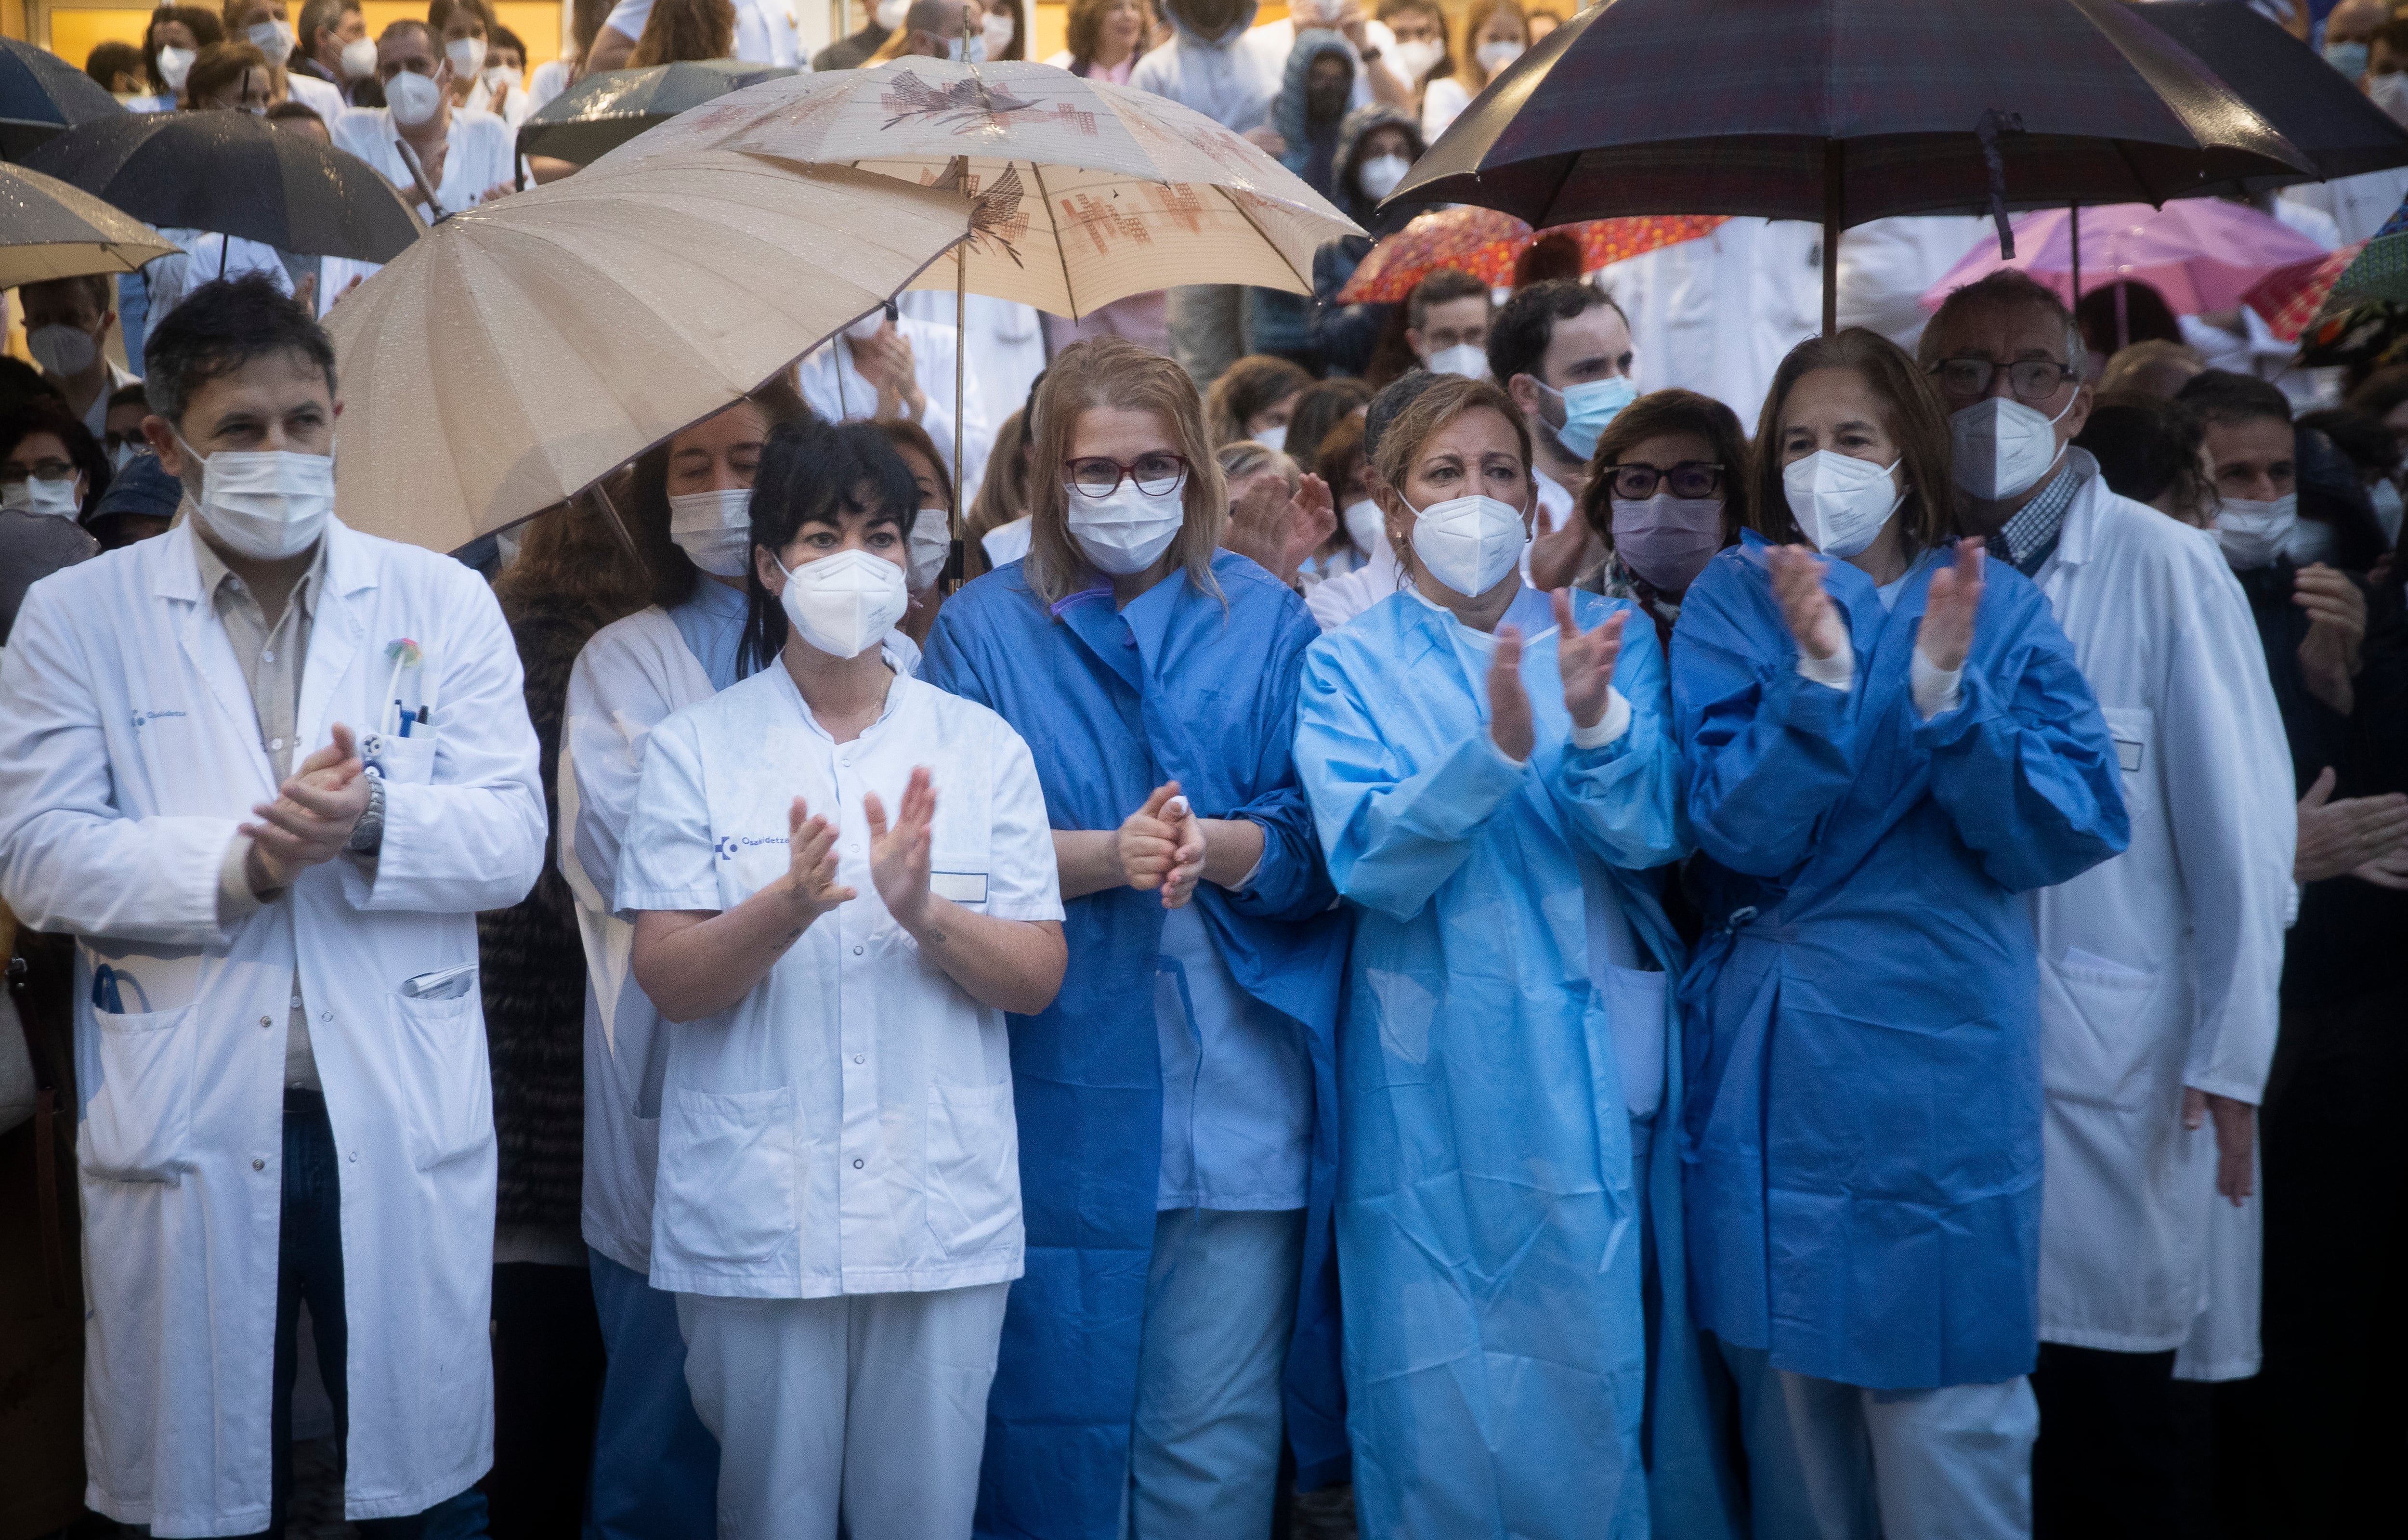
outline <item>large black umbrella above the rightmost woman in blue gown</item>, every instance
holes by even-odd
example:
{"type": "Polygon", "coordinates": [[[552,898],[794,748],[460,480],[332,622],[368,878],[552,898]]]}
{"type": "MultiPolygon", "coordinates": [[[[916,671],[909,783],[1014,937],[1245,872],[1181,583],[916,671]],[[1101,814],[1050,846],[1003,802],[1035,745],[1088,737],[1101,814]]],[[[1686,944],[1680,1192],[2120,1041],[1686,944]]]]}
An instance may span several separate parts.
{"type": "MultiPolygon", "coordinates": [[[[2165,202],[2314,180],[2283,135],[2117,0],[1613,0],[1515,60],[1394,197],[1536,229],[2165,202]]],[[[2011,245],[2008,245],[2011,250],[2011,245]]],[[[1837,310],[1823,262],[1823,322],[1837,310]]]]}

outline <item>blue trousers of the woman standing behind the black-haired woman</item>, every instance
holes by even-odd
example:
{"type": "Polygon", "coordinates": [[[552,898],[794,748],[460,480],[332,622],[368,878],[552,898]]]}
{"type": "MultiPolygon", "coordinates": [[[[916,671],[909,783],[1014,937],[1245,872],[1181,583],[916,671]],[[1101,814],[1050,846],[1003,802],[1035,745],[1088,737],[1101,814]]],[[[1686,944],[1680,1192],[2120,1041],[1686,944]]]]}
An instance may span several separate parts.
{"type": "Polygon", "coordinates": [[[585,1540],[713,1540],[720,1441],[694,1415],[677,1295],[585,1249],[602,1316],[602,1417],[595,1424],[585,1540]]]}

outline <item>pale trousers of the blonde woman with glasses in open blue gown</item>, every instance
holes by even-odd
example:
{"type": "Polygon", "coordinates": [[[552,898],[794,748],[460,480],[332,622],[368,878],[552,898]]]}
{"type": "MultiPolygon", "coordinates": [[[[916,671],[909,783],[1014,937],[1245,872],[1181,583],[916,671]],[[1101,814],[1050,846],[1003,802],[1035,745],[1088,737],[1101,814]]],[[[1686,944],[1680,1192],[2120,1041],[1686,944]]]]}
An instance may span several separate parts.
{"type": "Polygon", "coordinates": [[[1271,1533],[1303,1261],[1303,1208],[1153,1215],[1122,1523],[1132,1540],[1271,1533]]]}

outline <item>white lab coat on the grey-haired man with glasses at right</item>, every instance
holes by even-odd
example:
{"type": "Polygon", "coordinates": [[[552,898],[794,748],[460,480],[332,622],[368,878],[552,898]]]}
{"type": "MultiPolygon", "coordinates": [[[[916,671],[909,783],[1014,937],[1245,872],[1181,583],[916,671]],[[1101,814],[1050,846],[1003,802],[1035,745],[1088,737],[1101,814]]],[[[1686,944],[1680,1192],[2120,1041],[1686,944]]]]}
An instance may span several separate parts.
{"type": "Polygon", "coordinates": [[[2028,898],[2040,946],[2040,1335],[2177,1348],[2211,1304],[2215,1133],[2259,1102],[2297,818],[2256,623],[2215,541],[2085,476],[2040,568],[2124,765],[2131,847],[2028,898]]]}

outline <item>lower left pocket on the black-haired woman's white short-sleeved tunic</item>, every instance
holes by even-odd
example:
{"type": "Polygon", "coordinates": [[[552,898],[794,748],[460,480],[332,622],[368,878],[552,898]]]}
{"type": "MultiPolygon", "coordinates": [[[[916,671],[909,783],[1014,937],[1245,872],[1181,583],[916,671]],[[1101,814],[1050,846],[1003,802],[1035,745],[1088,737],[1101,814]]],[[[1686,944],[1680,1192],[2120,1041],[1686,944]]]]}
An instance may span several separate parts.
{"type": "Polygon", "coordinates": [[[669,1088],[660,1109],[657,1258],[727,1268],[795,1242],[795,1092],[669,1088]]]}

